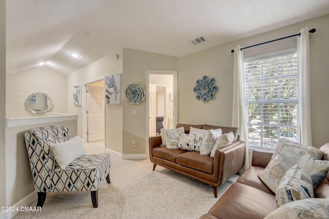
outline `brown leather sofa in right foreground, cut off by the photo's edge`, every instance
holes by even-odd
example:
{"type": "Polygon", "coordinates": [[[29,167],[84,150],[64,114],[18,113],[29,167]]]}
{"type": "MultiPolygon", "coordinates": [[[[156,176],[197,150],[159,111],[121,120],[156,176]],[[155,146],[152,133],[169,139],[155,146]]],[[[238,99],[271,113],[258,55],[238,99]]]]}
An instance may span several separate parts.
{"type": "MultiPolygon", "coordinates": [[[[329,143],[324,144],[322,160],[329,160],[329,143]]],[[[202,219],[264,218],[277,209],[276,195],[264,184],[257,173],[264,170],[272,153],[253,151],[252,166],[218,199],[202,219]]],[[[329,198],[329,172],[314,190],[315,198],[329,198]]]]}

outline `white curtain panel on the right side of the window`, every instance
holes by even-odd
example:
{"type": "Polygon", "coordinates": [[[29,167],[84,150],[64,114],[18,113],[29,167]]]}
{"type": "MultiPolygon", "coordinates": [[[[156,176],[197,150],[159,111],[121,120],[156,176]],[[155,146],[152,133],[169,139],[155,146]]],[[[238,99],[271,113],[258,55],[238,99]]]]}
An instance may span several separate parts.
{"type": "Polygon", "coordinates": [[[302,28],[297,37],[297,68],[299,80],[299,118],[301,143],[312,145],[310,126],[310,88],[309,88],[309,33],[308,27],[302,28]]]}

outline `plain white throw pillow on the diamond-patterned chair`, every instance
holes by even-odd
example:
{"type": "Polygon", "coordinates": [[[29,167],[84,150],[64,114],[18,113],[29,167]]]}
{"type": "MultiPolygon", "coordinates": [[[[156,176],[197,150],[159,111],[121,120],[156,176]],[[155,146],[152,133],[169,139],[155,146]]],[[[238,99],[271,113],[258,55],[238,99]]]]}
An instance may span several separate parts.
{"type": "Polygon", "coordinates": [[[51,143],[52,154],[58,165],[64,170],[67,165],[78,157],[85,155],[82,139],[79,136],[61,143],[51,143]]]}

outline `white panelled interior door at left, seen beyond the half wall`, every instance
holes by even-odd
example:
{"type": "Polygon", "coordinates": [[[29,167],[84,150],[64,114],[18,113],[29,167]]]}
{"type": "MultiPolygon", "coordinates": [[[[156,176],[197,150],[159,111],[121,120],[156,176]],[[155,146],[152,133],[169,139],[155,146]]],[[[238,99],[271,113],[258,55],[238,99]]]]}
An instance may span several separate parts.
{"type": "Polygon", "coordinates": [[[105,139],[104,87],[88,85],[88,142],[105,139]]]}

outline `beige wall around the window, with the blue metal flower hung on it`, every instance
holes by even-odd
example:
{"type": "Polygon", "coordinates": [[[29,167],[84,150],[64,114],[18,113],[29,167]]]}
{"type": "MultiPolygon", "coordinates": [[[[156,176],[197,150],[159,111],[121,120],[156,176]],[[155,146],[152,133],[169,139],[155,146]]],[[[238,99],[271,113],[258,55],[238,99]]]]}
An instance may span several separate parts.
{"type": "MultiPolygon", "coordinates": [[[[235,46],[242,47],[281,38],[300,32],[308,26],[316,28],[310,34],[310,97],[312,139],[315,147],[329,142],[327,127],[329,116],[329,14],[277,30],[258,34],[239,41],[219,45],[178,58],[178,122],[230,126],[232,119],[233,53],[235,46]],[[204,75],[214,77],[219,90],[214,100],[203,103],[195,98],[193,87],[204,75]]],[[[245,57],[296,47],[296,38],[246,49],[245,57]]]]}

